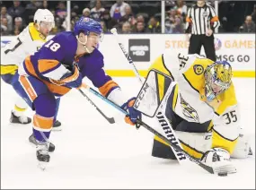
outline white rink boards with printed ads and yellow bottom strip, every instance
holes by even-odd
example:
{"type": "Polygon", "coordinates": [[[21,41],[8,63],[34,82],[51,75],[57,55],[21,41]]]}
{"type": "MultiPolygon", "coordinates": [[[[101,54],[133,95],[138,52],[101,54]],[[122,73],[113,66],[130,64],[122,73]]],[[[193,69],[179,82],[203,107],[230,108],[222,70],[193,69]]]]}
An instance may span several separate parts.
{"type": "MultiPolygon", "coordinates": [[[[1,47],[13,38],[1,37],[1,47]]],[[[122,34],[119,39],[142,75],[163,52],[188,53],[189,48],[184,34],[122,34]]],[[[104,55],[107,73],[111,76],[135,76],[113,35],[105,34],[98,48],[104,55]]],[[[216,34],[215,48],[217,60],[226,60],[233,66],[234,77],[255,77],[254,34],[216,34]]],[[[205,56],[204,48],[201,56],[205,56]]]]}

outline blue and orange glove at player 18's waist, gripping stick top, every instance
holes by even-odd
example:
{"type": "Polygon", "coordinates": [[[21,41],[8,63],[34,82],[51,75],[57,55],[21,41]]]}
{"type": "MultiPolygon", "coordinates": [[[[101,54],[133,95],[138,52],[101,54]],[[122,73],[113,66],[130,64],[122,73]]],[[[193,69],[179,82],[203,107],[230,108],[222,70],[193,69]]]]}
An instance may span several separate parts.
{"type": "Polygon", "coordinates": [[[77,66],[74,66],[72,71],[64,74],[60,80],[51,79],[50,81],[56,85],[66,85],[68,88],[77,88],[81,86],[82,80],[82,74],[79,72],[77,66]]]}

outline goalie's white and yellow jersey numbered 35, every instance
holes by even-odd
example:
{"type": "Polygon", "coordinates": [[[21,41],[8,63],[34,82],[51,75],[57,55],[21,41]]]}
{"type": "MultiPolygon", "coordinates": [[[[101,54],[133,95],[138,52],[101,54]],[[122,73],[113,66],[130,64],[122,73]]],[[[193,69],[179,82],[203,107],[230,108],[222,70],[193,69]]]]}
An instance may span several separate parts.
{"type": "MultiPolygon", "coordinates": [[[[240,114],[234,84],[212,102],[205,97],[204,71],[214,62],[203,56],[163,54],[150,69],[159,70],[177,82],[173,96],[173,111],[189,122],[213,122],[212,147],[221,147],[232,153],[240,132],[240,114]]],[[[163,83],[159,82],[160,88],[163,83]]]]}

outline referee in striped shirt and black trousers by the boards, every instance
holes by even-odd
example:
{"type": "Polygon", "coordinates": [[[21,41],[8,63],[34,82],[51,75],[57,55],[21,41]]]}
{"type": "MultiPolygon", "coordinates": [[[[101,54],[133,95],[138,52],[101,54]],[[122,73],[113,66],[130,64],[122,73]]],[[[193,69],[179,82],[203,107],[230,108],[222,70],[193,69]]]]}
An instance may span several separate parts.
{"type": "Polygon", "coordinates": [[[207,58],[216,61],[213,30],[220,25],[215,10],[206,1],[197,1],[186,18],[186,35],[191,32],[189,54],[199,54],[205,48],[207,58]]]}

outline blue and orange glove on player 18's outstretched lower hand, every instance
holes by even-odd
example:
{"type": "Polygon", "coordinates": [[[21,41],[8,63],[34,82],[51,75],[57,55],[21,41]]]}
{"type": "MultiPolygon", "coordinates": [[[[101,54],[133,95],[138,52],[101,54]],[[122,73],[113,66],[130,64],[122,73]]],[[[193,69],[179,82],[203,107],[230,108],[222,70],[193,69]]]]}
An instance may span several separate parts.
{"type": "Polygon", "coordinates": [[[135,99],[136,97],[128,99],[128,101],[121,106],[121,108],[125,109],[128,112],[128,116],[125,117],[125,121],[129,125],[135,125],[137,122],[137,118],[141,119],[141,112],[133,108],[135,99]]]}

